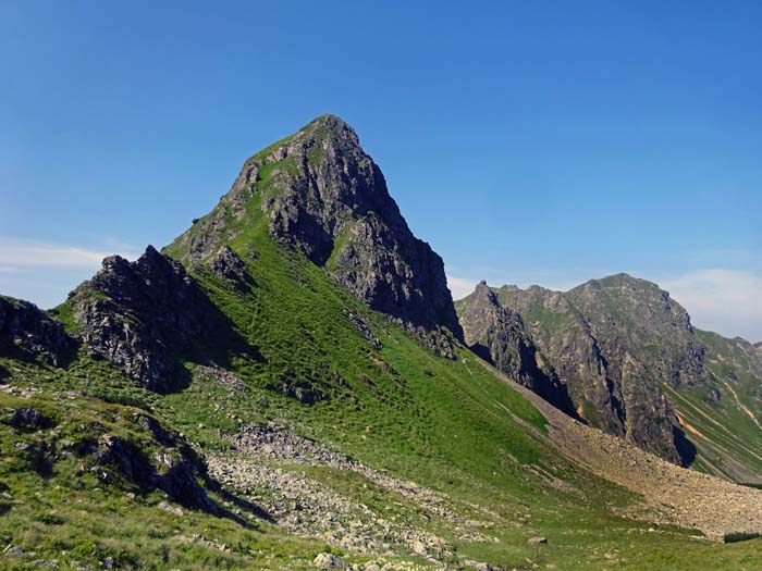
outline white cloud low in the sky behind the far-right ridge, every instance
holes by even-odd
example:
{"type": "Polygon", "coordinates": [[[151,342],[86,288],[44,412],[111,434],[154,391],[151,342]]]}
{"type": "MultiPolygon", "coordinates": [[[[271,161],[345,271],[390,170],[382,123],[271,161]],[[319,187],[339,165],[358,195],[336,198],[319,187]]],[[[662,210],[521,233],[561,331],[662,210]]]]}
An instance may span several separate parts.
{"type": "Polygon", "coordinates": [[[701,328],[752,342],[762,339],[762,274],[720,268],[662,280],[701,328]]]}

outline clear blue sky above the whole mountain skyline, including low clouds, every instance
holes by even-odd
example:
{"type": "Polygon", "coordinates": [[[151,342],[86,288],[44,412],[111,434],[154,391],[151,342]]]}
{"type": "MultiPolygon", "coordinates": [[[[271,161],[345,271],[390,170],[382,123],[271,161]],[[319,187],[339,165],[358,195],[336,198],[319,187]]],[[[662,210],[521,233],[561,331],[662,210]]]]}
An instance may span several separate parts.
{"type": "Polygon", "coordinates": [[[330,112],[456,297],[626,271],[760,340],[760,29],[755,1],[5,0],[0,291],[56,305],[330,112]]]}

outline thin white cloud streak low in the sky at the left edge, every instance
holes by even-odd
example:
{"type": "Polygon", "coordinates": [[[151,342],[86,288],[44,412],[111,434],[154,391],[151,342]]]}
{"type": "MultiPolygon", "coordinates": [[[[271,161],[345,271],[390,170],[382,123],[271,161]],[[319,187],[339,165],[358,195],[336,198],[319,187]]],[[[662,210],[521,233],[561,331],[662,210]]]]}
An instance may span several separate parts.
{"type": "MultiPolygon", "coordinates": [[[[102,259],[112,253],[105,249],[0,236],[0,264],[5,273],[19,268],[97,269],[102,259]]],[[[132,252],[123,255],[134,257],[132,252]]]]}

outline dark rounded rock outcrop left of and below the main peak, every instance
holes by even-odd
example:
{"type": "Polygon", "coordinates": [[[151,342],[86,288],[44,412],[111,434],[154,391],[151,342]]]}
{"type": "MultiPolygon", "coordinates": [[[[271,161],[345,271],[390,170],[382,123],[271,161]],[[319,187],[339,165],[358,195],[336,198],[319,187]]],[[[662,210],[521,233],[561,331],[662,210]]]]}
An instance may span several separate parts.
{"type": "Polygon", "coordinates": [[[113,256],[70,298],[78,337],[139,385],[165,393],[177,358],[207,334],[210,302],[183,266],[148,247],[135,262],[113,256]]]}

